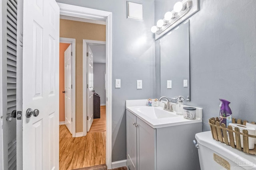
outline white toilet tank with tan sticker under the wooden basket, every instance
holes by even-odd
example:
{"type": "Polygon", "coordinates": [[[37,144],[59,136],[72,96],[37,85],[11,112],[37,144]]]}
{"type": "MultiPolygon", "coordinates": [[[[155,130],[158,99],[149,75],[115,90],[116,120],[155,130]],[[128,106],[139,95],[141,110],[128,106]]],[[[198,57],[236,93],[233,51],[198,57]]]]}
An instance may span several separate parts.
{"type": "Polygon", "coordinates": [[[212,139],[211,131],[196,134],[201,170],[256,170],[256,156],[212,139]]]}

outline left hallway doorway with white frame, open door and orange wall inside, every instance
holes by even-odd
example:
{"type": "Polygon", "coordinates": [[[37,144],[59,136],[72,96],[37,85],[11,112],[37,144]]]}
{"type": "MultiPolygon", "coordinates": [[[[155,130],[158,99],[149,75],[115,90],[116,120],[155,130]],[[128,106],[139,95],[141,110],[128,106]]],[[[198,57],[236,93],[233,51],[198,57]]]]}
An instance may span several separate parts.
{"type": "Polygon", "coordinates": [[[60,125],[76,137],[76,39],[60,37],[60,125]]]}

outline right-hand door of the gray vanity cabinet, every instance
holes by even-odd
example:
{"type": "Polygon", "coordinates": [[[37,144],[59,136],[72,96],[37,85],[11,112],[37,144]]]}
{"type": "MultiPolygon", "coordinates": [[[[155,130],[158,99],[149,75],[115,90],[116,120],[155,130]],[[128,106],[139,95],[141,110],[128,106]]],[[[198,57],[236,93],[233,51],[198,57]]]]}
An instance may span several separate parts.
{"type": "Polygon", "coordinates": [[[156,170],[156,129],[137,117],[137,170],[156,170]]]}

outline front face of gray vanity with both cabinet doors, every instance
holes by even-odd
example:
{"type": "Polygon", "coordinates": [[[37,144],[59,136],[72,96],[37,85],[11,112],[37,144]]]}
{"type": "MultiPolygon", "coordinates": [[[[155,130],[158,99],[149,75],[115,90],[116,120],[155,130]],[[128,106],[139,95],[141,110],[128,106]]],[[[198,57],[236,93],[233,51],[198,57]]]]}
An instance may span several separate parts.
{"type": "Polygon", "coordinates": [[[130,170],[156,170],[156,129],[126,110],[127,166],[130,170]]]}

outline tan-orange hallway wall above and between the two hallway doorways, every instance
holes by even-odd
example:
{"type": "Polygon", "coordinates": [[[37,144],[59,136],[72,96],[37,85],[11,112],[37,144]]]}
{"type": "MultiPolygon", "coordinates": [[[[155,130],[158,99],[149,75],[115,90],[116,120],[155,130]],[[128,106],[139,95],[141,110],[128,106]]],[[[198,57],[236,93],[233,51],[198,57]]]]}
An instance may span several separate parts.
{"type": "Polygon", "coordinates": [[[83,131],[83,39],[106,41],[106,25],[60,19],[60,37],[76,39],[76,133],[78,133],[83,131]]]}

